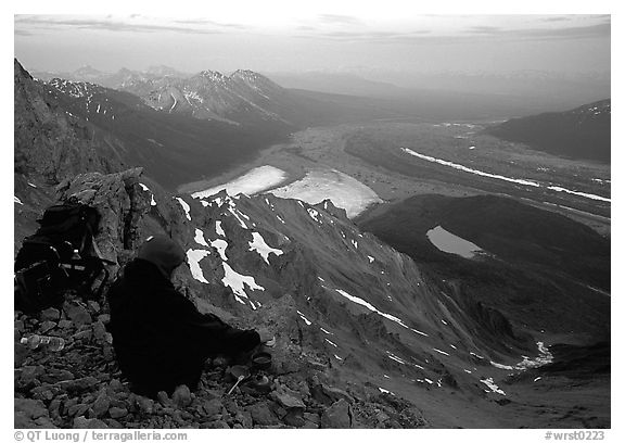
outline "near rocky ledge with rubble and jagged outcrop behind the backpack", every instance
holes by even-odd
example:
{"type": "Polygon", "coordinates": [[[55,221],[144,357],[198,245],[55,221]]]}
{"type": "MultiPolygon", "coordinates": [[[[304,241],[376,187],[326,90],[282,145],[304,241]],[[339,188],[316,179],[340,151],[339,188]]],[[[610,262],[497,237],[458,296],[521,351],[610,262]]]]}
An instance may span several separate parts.
{"type": "MultiPolygon", "coordinates": [[[[141,169],[113,175],[88,173],[62,182],[60,200],[89,203],[102,214],[95,241],[103,255],[118,265],[148,235],[167,232],[189,242],[184,205],[141,177],[141,169]],[[150,187],[148,187],[149,183],[150,187]]],[[[194,202],[191,202],[194,203],[194,202]]],[[[340,212],[339,212],[340,213],[340,212]]],[[[196,214],[193,213],[195,218],[196,214]]],[[[226,229],[229,229],[226,226],[226,229]]],[[[216,251],[215,251],[216,252],[216,251]]],[[[130,392],[114,358],[104,300],[85,303],[66,294],[59,308],[38,315],[15,313],[15,427],[62,428],[354,428],[420,427],[425,421],[409,402],[391,394],[367,393],[335,385],[336,374],[328,358],[302,340],[302,318],[290,295],[273,299],[257,311],[241,311],[237,318],[230,303],[197,295],[191,275],[178,283],[199,308],[219,313],[240,326],[266,325],[277,331],[273,366],[267,376],[271,391],[258,394],[244,389],[231,395],[228,362],[208,362],[202,387],[158,401],[130,392]],[[29,350],[18,339],[31,333],[63,337],[67,345],[53,353],[29,350]],[[372,417],[378,417],[374,421],[372,417]]],[[[203,286],[204,283],[202,283],[203,286]]],[[[205,291],[204,291],[205,292],[205,291]]],[[[230,296],[231,299],[231,296],[230,296]]],[[[239,304],[234,302],[235,304],[239,304]]]]}

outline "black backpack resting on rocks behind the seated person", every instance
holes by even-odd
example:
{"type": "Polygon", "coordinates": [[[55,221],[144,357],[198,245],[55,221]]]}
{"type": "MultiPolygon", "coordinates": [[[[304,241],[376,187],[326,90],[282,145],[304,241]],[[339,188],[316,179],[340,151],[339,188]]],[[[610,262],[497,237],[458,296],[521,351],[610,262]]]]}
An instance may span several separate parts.
{"type": "Polygon", "coordinates": [[[84,300],[98,300],[109,271],[97,252],[93,235],[100,214],[80,203],[50,206],[37,220],[37,232],[24,239],[15,258],[15,309],[26,313],[63,303],[76,290],[84,300]],[[104,273],[98,290],[91,286],[104,273]]]}

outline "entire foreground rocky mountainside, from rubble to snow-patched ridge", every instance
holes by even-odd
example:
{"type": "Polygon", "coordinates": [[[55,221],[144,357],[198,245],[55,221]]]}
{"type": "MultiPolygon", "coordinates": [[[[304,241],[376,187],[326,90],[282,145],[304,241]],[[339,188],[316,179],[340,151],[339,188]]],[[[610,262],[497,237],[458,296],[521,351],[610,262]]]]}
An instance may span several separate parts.
{"type": "MultiPolygon", "coordinates": [[[[141,169],[79,175],[56,197],[100,211],[95,241],[117,264],[112,275],[150,235],[180,242],[190,268],[175,283],[199,309],[275,331],[272,388],[224,395],[231,382],[218,360],[193,395],[138,397],[119,378],[105,302],[68,294],[58,311],[15,313],[16,339],[41,332],[69,343],[56,354],[16,344],[20,426],[419,427],[434,414],[432,400],[498,406],[498,379],[550,357],[497,311],[459,303],[329,201],[225,193],[195,201],[141,169]]],[[[434,416],[433,426],[454,426],[434,416]]]]}

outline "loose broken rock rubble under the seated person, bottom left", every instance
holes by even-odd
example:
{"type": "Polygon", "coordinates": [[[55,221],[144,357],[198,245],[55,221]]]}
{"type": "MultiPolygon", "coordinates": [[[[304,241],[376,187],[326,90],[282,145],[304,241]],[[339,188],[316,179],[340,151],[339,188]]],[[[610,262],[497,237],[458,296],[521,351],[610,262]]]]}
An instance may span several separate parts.
{"type": "MultiPolygon", "coordinates": [[[[164,392],[154,401],[132,393],[124,381],[114,358],[111,336],[104,325],[105,307],[68,300],[62,309],[48,309],[36,317],[16,313],[16,338],[41,333],[46,322],[53,322],[54,336],[66,340],[60,352],[29,350],[15,343],[23,355],[15,368],[15,428],[339,428],[345,425],[341,402],[326,412],[326,405],[311,395],[308,380],[311,369],[301,360],[296,372],[270,369],[270,391],[255,392],[237,388],[227,367],[218,359],[208,362],[201,388],[191,392],[181,387],[169,398],[164,392]],[[91,321],[76,317],[81,312],[91,321]],[[104,331],[104,332],[102,332],[104,331]],[[323,418],[326,417],[326,418],[323,418]]],[[[312,381],[310,381],[312,382],[312,381]]],[[[346,394],[348,395],[348,394],[346,394]]],[[[353,407],[363,416],[383,403],[367,398],[353,407]]],[[[349,409],[352,410],[352,409],[349,409]]],[[[400,412],[395,412],[396,415],[400,412]]],[[[420,427],[413,421],[405,427],[420,427]]]]}

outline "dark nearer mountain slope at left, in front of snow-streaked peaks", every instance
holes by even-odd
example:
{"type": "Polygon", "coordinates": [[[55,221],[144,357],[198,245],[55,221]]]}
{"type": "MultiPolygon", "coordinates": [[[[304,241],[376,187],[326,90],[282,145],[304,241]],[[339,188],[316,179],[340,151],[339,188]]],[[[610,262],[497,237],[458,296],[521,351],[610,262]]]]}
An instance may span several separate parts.
{"type": "Polygon", "coordinates": [[[77,170],[142,166],[167,188],[219,174],[285,137],[284,124],[240,127],[158,112],[129,92],[55,78],[15,61],[15,170],[58,183],[77,170]]]}

